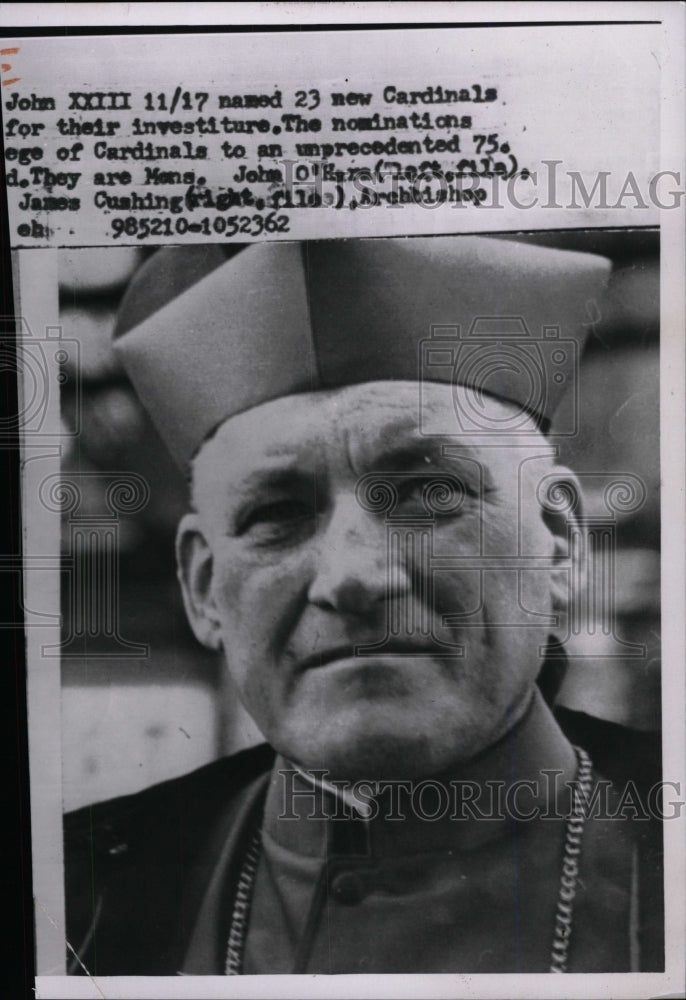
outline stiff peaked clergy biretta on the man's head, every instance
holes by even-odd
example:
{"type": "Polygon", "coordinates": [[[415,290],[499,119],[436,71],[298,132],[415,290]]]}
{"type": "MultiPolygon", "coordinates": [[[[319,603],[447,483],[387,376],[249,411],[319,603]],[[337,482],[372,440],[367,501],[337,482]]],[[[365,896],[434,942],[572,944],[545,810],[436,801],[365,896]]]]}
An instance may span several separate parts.
{"type": "Polygon", "coordinates": [[[609,268],[475,236],[165,247],[124,296],[115,351],[182,468],[228,417],[361,382],[468,385],[545,425],[609,268]]]}

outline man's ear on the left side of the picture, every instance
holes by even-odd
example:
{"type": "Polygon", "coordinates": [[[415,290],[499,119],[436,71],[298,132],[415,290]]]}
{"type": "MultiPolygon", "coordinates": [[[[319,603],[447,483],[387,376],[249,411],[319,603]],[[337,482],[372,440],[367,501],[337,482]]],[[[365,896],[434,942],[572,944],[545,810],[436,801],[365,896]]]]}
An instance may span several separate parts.
{"type": "Polygon", "coordinates": [[[213,556],[197,514],[186,514],[176,531],[176,575],[196,639],[221,648],[221,629],[212,596],[213,556]]]}

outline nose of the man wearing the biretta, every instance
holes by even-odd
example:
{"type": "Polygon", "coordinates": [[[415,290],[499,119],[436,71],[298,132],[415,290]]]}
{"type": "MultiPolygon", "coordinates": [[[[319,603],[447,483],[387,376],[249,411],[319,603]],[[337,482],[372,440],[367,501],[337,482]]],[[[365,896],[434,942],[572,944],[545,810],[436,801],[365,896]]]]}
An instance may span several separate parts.
{"type": "Polygon", "coordinates": [[[354,496],[340,500],[318,547],[308,591],[312,604],[343,615],[374,616],[410,587],[408,568],[389,553],[384,518],[363,510],[354,496]]]}

